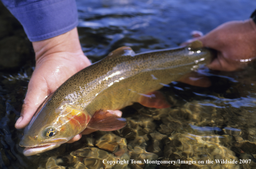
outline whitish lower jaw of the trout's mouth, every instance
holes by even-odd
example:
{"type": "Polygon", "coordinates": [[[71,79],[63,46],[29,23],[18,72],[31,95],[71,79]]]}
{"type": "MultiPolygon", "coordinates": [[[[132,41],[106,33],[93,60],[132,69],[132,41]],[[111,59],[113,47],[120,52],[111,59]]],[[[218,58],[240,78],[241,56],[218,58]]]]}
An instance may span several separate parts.
{"type": "Polygon", "coordinates": [[[23,150],[23,154],[25,156],[35,155],[35,154],[39,154],[42,152],[46,152],[51,149],[55,149],[55,148],[59,147],[60,145],[61,145],[60,143],[57,143],[57,144],[48,144],[48,145],[44,145],[44,146],[26,147],[23,150]]]}

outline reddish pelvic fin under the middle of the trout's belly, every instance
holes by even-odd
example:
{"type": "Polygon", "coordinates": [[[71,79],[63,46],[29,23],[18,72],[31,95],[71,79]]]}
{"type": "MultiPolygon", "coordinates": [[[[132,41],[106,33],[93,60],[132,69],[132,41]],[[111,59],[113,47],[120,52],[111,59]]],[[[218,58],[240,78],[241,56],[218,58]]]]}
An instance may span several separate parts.
{"type": "Polygon", "coordinates": [[[170,108],[171,105],[160,91],[154,91],[140,96],[139,103],[148,108],[170,108]]]}

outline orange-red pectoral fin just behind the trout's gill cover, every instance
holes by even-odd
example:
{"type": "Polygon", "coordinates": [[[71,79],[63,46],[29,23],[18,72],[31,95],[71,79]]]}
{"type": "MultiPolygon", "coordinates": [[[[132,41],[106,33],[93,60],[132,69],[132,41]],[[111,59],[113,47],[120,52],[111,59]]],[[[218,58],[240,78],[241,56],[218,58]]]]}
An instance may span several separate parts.
{"type": "Polygon", "coordinates": [[[127,122],[124,118],[100,109],[92,116],[86,128],[101,131],[114,131],[125,127],[126,124],[127,122]]]}

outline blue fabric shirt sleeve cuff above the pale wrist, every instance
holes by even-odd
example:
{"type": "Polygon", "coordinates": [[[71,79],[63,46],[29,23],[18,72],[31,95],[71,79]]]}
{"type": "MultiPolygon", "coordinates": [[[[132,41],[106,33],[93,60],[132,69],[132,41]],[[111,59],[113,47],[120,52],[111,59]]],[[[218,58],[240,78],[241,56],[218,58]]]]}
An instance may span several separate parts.
{"type": "Polygon", "coordinates": [[[42,41],[78,24],[75,0],[2,0],[24,27],[30,41],[42,41]]]}

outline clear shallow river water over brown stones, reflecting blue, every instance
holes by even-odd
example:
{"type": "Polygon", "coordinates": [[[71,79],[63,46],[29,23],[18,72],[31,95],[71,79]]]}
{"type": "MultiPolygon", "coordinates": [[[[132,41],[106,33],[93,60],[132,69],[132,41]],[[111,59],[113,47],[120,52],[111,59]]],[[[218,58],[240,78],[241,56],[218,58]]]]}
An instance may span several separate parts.
{"type": "MultiPolygon", "coordinates": [[[[177,47],[193,30],[207,33],[226,21],[249,18],[256,1],[77,0],[77,8],[80,42],[95,62],[121,46],[135,52],[177,47]]],[[[128,121],[125,128],[97,131],[25,157],[18,145],[22,130],[14,124],[34,69],[34,54],[21,25],[2,4],[0,25],[0,168],[256,168],[255,64],[232,73],[202,67],[210,87],[173,82],[161,89],[173,107],[134,104],[122,110],[128,121]],[[129,163],[107,163],[119,159],[129,163]]]]}

